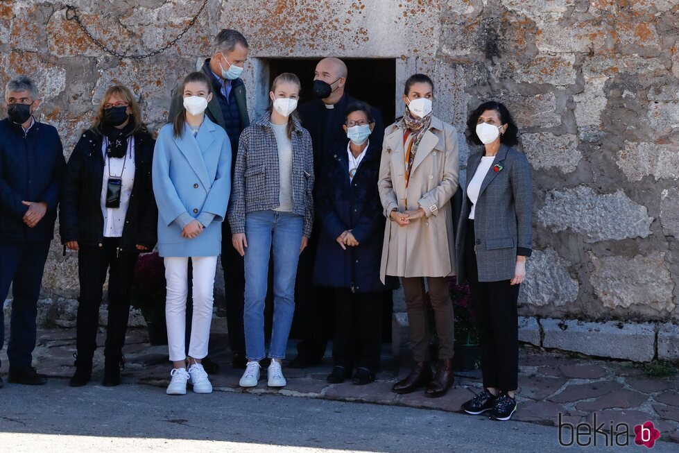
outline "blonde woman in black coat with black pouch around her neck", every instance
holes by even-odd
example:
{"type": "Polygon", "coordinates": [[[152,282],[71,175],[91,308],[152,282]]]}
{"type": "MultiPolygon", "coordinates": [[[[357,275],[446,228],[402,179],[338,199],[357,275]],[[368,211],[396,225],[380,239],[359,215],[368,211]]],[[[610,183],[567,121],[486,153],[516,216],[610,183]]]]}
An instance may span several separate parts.
{"type": "Polygon", "coordinates": [[[113,85],[69,159],[59,216],[62,243],[78,252],[80,280],[71,386],[83,386],[92,377],[107,271],[103,384],[120,384],[135,264],[139,253],[153,249],[156,242],[158,212],[151,187],[154,146],[130,89],[113,85]]]}

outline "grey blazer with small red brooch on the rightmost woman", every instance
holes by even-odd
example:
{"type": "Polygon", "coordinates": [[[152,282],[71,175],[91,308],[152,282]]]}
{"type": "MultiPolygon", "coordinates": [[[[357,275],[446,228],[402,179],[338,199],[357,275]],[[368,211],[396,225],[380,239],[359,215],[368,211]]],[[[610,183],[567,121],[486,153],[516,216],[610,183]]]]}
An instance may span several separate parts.
{"type": "MultiPolygon", "coordinates": [[[[467,182],[481,162],[483,150],[467,160],[467,182]]],[[[467,218],[472,202],[463,192],[462,211],[455,241],[458,279],[464,281],[467,218]]],[[[488,170],[474,210],[474,237],[479,282],[499,282],[514,277],[517,255],[531,256],[533,227],[531,215],[531,169],[526,156],[501,145],[488,170]]]]}

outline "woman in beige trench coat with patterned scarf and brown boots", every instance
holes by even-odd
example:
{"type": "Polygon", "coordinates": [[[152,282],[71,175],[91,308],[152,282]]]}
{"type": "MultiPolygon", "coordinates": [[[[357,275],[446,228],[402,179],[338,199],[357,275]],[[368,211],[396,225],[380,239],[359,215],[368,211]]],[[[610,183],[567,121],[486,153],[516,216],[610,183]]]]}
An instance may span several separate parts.
{"type": "Polygon", "coordinates": [[[381,278],[402,277],[415,366],[393,386],[396,393],[426,387],[425,395],[445,395],[453,384],[453,306],[447,277],[455,275],[450,198],[458,187],[457,133],[431,113],[433,82],[424,74],[406,80],[403,119],[386,128],[379,168],[379,196],[387,222],[381,278]],[[429,364],[427,303],[436,318],[438,364],[429,364]]]}

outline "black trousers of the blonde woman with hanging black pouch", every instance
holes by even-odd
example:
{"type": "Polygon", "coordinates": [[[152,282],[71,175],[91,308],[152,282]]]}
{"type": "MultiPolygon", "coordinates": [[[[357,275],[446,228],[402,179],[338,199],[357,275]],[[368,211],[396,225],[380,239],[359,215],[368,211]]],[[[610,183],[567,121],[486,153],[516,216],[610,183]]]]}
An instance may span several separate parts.
{"type": "Polygon", "coordinates": [[[130,288],[139,253],[118,251],[119,242],[119,238],[104,238],[101,247],[80,246],[78,251],[80,298],[76,318],[76,349],[78,357],[85,360],[91,359],[96,350],[99,306],[106,271],[109,271],[108,326],[104,355],[113,360],[122,355],[130,316],[130,288]]]}

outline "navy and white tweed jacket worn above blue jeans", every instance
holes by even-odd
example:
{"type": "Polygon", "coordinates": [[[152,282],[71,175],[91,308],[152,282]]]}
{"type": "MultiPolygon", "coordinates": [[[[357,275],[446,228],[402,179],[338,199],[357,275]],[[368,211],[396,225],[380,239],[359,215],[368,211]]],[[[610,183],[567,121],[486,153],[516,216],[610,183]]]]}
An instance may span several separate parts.
{"type": "MultiPolygon", "coordinates": [[[[276,136],[266,112],[248,126],[238,144],[228,218],[234,234],[246,230],[248,212],[279,207],[280,170],[276,136]]],[[[293,213],[304,217],[304,237],[311,236],[313,225],[313,148],[309,131],[290,117],[295,128],[293,146],[293,213]]]]}

